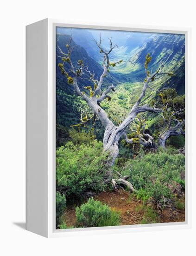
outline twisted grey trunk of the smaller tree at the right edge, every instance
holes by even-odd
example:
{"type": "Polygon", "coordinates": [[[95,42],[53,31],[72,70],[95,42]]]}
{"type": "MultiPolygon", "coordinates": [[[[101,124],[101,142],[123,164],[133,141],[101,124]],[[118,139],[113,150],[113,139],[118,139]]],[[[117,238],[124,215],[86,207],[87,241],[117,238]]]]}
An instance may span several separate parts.
{"type": "Polygon", "coordinates": [[[183,127],[185,120],[183,121],[177,121],[177,125],[175,127],[169,128],[168,130],[164,131],[161,135],[158,137],[158,145],[165,148],[165,143],[167,139],[169,139],[170,136],[178,136],[183,133],[183,127]]]}

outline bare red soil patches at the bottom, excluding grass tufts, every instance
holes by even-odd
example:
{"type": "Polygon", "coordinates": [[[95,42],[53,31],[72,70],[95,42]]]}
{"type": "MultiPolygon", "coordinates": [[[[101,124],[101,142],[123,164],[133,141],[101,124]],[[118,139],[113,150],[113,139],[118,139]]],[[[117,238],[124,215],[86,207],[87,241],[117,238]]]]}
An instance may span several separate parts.
{"type": "MultiPolygon", "coordinates": [[[[143,203],[130,196],[128,191],[113,191],[101,192],[95,196],[95,200],[107,204],[109,207],[120,211],[121,223],[120,225],[140,224],[144,219],[145,209],[142,207],[143,203]]],[[[184,203],[184,197],[180,199],[184,203]]],[[[158,213],[155,206],[147,204],[154,208],[158,213]]],[[[148,207],[146,206],[146,207],[148,207]]],[[[74,226],[76,224],[75,206],[68,206],[64,213],[64,220],[67,226],[74,226]]],[[[184,222],[185,210],[176,209],[174,207],[166,207],[161,213],[158,213],[156,222],[184,222]]],[[[148,223],[151,223],[148,221],[148,223]]]]}

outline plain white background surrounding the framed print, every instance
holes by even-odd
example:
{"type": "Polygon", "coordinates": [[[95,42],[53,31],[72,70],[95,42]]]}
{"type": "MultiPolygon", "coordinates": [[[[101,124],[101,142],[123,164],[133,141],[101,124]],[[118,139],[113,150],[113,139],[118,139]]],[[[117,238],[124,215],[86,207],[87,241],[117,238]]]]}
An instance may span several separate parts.
{"type": "MultiPolygon", "coordinates": [[[[195,10],[193,0],[9,0],[1,2],[0,255],[195,255],[195,150],[191,152],[194,210],[192,229],[46,239],[19,227],[24,227],[25,222],[25,25],[49,17],[83,20],[88,21],[89,24],[91,21],[107,21],[119,22],[119,26],[120,23],[129,23],[192,27],[191,70],[194,77],[196,70],[195,10]]],[[[195,98],[194,79],[189,86],[192,86],[192,98],[195,98]]],[[[195,101],[192,101],[193,108],[196,107],[195,101]]]]}

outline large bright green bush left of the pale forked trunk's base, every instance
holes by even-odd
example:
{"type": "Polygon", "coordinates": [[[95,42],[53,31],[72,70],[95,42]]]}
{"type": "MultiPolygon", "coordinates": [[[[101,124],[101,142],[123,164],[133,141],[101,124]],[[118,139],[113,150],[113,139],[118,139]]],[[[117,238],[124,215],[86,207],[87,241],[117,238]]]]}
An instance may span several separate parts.
{"type": "Polygon", "coordinates": [[[66,192],[66,197],[81,197],[87,191],[102,191],[106,188],[104,175],[107,171],[103,145],[95,141],[91,145],[74,145],[68,142],[56,152],[57,187],[66,192]]]}

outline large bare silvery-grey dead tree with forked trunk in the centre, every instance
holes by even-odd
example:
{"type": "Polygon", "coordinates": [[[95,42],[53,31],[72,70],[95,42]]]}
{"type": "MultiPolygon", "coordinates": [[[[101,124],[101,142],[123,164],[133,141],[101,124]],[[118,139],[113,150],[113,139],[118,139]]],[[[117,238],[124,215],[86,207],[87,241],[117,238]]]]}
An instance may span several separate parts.
{"type": "MultiPolygon", "coordinates": [[[[67,51],[64,53],[60,47],[58,47],[58,50],[61,54],[61,56],[58,56],[62,59],[62,62],[58,64],[58,67],[61,69],[61,73],[64,74],[67,77],[67,81],[69,84],[73,85],[74,90],[76,91],[77,95],[82,97],[84,101],[87,102],[89,108],[93,111],[94,115],[96,115],[99,120],[101,121],[103,127],[105,128],[104,137],[103,137],[103,150],[108,152],[109,158],[108,158],[108,166],[111,167],[114,164],[115,159],[119,155],[119,140],[122,136],[127,138],[126,136],[126,128],[132,123],[135,119],[135,117],[139,113],[143,112],[151,112],[151,113],[158,113],[162,111],[160,108],[150,107],[147,104],[141,104],[142,100],[145,97],[145,92],[148,88],[152,89],[152,87],[149,86],[151,82],[155,80],[156,77],[161,77],[163,75],[172,75],[168,72],[163,72],[164,65],[161,64],[161,67],[159,67],[154,73],[149,72],[148,70],[148,64],[151,61],[152,57],[150,54],[146,55],[145,58],[145,72],[146,77],[144,81],[144,85],[142,88],[142,92],[139,95],[138,100],[135,102],[133,107],[130,109],[129,114],[126,116],[125,120],[120,123],[120,125],[115,125],[113,121],[111,121],[107,113],[103,108],[101,108],[101,102],[104,101],[106,98],[110,99],[110,96],[108,93],[111,91],[115,91],[115,87],[112,84],[107,88],[107,90],[102,91],[101,87],[103,84],[104,77],[109,72],[109,67],[114,67],[118,63],[122,62],[122,60],[117,62],[110,62],[109,61],[109,54],[112,52],[112,50],[117,47],[117,45],[113,45],[112,40],[109,39],[109,49],[106,50],[101,46],[101,36],[99,41],[95,41],[97,47],[100,49],[100,53],[103,54],[103,72],[99,79],[95,79],[95,73],[90,72],[88,70],[88,66],[85,66],[82,60],[77,61],[77,65],[74,66],[71,60],[71,53],[72,53],[72,47],[71,42],[70,44],[67,44],[67,51]],[[69,64],[69,70],[65,69],[65,63],[69,64]],[[93,86],[87,86],[85,87],[86,92],[82,92],[81,89],[78,86],[78,80],[82,79],[82,75],[86,73],[89,74],[89,80],[93,83],[93,86]],[[89,93],[87,93],[89,91],[89,93]]],[[[152,89],[153,90],[153,89],[152,89]]],[[[146,135],[147,137],[147,135],[146,135]]],[[[145,141],[144,137],[139,138],[141,144],[149,145],[152,143],[152,137],[149,135],[147,141],[145,141]]],[[[128,139],[126,139],[128,143],[128,139]]],[[[120,180],[118,180],[120,182],[120,180]]]]}

